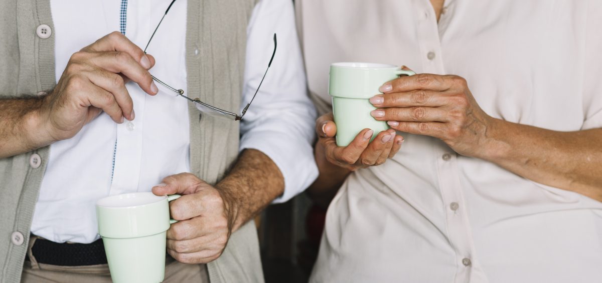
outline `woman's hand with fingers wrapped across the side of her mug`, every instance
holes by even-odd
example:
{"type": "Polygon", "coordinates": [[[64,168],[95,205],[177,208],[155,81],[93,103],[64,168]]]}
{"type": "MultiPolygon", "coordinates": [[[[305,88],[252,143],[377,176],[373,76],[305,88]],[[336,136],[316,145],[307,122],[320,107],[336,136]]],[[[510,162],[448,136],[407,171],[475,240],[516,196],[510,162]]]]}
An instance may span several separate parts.
{"type": "Polygon", "coordinates": [[[479,108],[459,76],[418,74],[386,82],[370,102],[371,115],[400,132],[439,138],[465,156],[485,156],[495,119],[479,108]]]}

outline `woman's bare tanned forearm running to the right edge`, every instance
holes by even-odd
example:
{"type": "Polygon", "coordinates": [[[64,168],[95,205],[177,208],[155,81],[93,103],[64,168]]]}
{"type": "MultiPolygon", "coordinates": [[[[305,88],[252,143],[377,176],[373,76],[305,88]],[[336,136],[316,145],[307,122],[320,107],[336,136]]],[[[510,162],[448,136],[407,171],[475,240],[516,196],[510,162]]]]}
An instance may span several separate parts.
{"type": "Polygon", "coordinates": [[[602,129],[557,132],[495,120],[477,156],[521,177],[602,201],[602,129]]]}

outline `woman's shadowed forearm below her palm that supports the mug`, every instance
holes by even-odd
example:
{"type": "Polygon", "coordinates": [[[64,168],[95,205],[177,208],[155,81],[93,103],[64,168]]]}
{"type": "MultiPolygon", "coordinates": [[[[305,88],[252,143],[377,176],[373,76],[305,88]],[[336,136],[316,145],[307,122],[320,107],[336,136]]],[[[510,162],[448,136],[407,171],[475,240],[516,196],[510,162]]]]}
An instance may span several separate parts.
{"type": "Polygon", "coordinates": [[[319,143],[315,145],[315,163],[320,174],[307,192],[313,201],[326,208],[351,171],[326,160],[324,148],[319,143]]]}

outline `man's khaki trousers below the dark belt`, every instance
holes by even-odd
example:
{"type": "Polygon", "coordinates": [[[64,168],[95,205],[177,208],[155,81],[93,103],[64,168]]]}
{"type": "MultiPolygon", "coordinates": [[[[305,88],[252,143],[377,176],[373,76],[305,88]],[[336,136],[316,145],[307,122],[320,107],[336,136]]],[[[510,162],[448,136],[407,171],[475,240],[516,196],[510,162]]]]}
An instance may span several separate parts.
{"type": "MultiPolygon", "coordinates": [[[[31,254],[37,237],[31,237],[28,255],[31,261],[23,263],[22,283],[111,283],[108,264],[96,266],[54,266],[37,263],[31,254]]],[[[209,283],[209,273],[205,264],[185,264],[167,255],[165,260],[165,279],[163,282],[200,282],[209,283]]]]}

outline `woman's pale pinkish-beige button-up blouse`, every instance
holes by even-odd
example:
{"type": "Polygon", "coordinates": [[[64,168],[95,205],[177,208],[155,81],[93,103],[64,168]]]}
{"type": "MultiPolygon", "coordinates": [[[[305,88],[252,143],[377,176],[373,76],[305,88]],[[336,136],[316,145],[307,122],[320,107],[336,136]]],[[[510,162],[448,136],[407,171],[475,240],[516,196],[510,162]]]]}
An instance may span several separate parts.
{"type": "MultiPolygon", "coordinates": [[[[602,127],[602,1],[447,0],[439,23],[429,0],[296,4],[323,102],[329,64],[379,62],[462,76],[495,118],[602,127]]],[[[330,204],[311,282],[602,282],[601,202],[400,135],[330,204]]]]}

